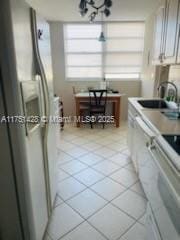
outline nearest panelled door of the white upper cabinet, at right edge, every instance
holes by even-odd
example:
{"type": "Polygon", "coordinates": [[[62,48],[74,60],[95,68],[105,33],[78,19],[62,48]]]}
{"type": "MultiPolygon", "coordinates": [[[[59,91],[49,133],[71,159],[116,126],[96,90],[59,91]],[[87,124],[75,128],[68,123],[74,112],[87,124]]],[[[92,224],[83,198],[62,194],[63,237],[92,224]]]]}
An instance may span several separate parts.
{"type": "Polygon", "coordinates": [[[167,0],[164,63],[176,63],[177,42],[179,33],[178,9],[179,0],[167,0]]]}

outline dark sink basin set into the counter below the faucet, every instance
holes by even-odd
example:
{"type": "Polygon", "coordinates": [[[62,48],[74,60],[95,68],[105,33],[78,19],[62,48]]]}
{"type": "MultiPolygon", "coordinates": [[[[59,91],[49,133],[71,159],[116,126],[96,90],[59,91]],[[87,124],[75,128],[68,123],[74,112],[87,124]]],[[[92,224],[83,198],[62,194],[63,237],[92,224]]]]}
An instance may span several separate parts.
{"type": "Polygon", "coordinates": [[[138,103],[144,108],[168,108],[166,102],[161,99],[139,100],[138,103]]]}

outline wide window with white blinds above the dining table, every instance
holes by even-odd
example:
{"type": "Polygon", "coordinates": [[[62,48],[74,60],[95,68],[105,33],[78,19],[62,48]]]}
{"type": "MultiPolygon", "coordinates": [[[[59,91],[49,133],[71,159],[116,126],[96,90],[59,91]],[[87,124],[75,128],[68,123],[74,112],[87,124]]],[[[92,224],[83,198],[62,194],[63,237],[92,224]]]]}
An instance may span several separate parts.
{"type": "Polygon", "coordinates": [[[143,22],[65,24],[66,77],[70,80],[139,79],[144,48],[143,22]]]}

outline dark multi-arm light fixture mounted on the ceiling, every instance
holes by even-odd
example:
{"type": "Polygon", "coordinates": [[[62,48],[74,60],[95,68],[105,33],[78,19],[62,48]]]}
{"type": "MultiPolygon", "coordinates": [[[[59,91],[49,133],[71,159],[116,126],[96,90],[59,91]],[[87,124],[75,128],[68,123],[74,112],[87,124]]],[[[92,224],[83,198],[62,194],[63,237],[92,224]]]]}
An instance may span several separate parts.
{"type": "Polygon", "coordinates": [[[95,20],[100,9],[103,9],[101,12],[106,17],[109,17],[111,15],[110,8],[112,7],[112,0],[104,0],[100,6],[96,6],[95,4],[96,3],[93,0],[81,0],[79,3],[79,11],[81,16],[84,17],[87,14],[89,11],[88,6],[93,9],[93,12],[91,12],[91,14],[88,16],[90,22],[93,22],[95,20]]]}

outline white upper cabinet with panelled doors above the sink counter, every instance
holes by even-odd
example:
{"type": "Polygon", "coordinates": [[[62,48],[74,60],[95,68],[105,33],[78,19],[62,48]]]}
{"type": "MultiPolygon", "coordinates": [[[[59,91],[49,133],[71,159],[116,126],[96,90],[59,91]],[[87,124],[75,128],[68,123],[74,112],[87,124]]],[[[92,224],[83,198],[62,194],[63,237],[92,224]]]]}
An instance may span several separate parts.
{"type": "Polygon", "coordinates": [[[178,52],[180,0],[162,0],[156,12],[154,64],[175,64],[178,52]]]}

